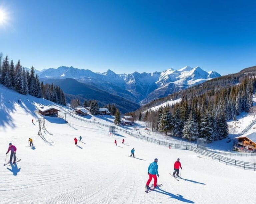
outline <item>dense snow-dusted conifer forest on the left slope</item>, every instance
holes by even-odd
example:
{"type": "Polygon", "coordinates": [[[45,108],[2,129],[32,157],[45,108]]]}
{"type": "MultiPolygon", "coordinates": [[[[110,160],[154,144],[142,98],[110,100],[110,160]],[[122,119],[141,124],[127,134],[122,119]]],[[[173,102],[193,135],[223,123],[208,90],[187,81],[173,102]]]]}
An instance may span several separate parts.
{"type": "Polygon", "coordinates": [[[8,56],[3,57],[2,52],[0,52],[0,83],[24,95],[30,94],[37,98],[45,98],[66,105],[66,99],[60,87],[53,86],[53,84],[44,85],[43,82],[40,84],[33,66],[29,71],[22,67],[20,60],[16,65],[13,60],[9,63],[8,56]]]}

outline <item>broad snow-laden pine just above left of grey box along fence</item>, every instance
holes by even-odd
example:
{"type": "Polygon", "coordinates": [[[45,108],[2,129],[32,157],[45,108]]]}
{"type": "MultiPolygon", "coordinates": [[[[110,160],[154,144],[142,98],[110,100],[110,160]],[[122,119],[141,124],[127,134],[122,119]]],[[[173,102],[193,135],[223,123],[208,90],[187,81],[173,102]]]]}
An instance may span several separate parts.
{"type": "Polygon", "coordinates": [[[194,119],[192,111],[190,112],[190,114],[188,116],[188,120],[185,122],[182,133],[183,133],[183,138],[185,138],[189,141],[194,141],[199,136],[198,125],[194,119]]]}

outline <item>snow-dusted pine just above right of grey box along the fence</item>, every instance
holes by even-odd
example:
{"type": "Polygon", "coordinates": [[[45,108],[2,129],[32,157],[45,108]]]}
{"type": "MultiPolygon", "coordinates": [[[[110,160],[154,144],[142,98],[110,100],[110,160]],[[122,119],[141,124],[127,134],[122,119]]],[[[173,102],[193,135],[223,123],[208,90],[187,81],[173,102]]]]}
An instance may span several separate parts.
{"type": "Polygon", "coordinates": [[[201,122],[200,137],[207,139],[208,143],[211,143],[214,140],[213,130],[211,127],[211,118],[208,111],[206,111],[201,122]]]}

